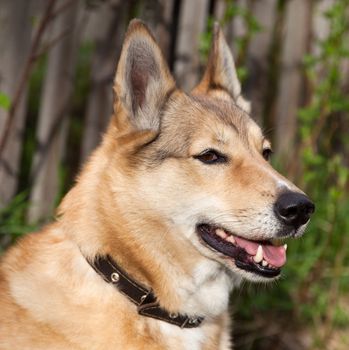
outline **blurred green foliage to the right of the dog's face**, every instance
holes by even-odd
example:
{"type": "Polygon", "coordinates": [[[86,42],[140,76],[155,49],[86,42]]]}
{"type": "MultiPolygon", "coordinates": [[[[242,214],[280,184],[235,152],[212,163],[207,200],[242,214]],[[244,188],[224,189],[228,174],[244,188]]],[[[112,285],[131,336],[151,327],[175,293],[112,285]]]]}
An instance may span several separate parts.
{"type": "Polygon", "coordinates": [[[349,99],[341,71],[349,58],[348,10],[349,1],[333,4],[324,14],[328,36],[318,42],[316,55],[304,57],[309,99],[299,111],[298,183],[316,203],[315,215],[304,237],[289,242],[288,263],[278,286],[266,291],[251,287],[246,297],[237,296],[238,317],[248,322],[256,310],[273,310],[293,324],[313,325],[317,349],[326,346],[336,327],[349,326],[343,308],[349,292],[349,99]]]}

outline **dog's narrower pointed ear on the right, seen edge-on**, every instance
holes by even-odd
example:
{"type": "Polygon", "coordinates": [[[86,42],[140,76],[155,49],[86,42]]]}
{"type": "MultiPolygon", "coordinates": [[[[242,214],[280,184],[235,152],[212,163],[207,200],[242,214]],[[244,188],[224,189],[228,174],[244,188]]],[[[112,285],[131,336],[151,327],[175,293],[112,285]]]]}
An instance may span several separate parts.
{"type": "Polygon", "coordinates": [[[250,112],[250,103],[241,95],[241,84],[237,76],[233,55],[217,22],[213,28],[211,51],[204,76],[194,92],[208,93],[213,89],[227,92],[235,103],[250,112]]]}

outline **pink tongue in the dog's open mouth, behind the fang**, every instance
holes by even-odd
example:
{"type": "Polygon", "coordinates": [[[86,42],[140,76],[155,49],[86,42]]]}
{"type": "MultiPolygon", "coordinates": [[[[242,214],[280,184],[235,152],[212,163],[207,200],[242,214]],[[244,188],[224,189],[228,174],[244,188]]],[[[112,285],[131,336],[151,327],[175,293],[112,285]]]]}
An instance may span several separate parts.
{"type": "MultiPolygon", "coordinates": [[[[248,254],[256,255],[259,243],[248,241],[247,239],[236,237],[235,242],[241,248],[244,248],[248,254]]],[[[262,244],[263,258],[269,264],[281,267],[286,263],[286,251],[283,246],[276,247],[271,244],[262,244]]]]}

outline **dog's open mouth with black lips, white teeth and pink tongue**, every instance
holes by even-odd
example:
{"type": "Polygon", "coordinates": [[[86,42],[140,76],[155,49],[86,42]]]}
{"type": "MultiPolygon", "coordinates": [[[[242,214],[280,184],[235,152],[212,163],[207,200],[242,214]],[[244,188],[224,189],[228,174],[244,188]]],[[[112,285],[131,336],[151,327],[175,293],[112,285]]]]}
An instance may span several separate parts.
{"type": "Polygon", "coordinates": [[[281,267],[286,263],[286,245],[247,240],[207,224],[198,225],[197,231],[209,247],[233,258],[235,265],[242,270],[273,278],[280,274],[281,267]]]}

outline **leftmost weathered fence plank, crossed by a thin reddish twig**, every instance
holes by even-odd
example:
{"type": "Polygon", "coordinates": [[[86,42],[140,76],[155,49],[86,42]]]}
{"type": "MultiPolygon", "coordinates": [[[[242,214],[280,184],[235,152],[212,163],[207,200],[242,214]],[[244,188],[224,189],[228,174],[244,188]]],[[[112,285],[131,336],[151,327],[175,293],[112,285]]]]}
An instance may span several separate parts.
{"type": "MultiPolygon", "coordinates": [[[[11,0],[1,8],[0,18],[0,91],[12,101],[29,59],[31,1],[11,0]]],[[[0,208],[16,193],[23,127],[26,116],[27,88],[24,87],[0,159],[0,208]]],[[[0,140],[5,137],[8,112],[0,108],[0,140]]]]}

